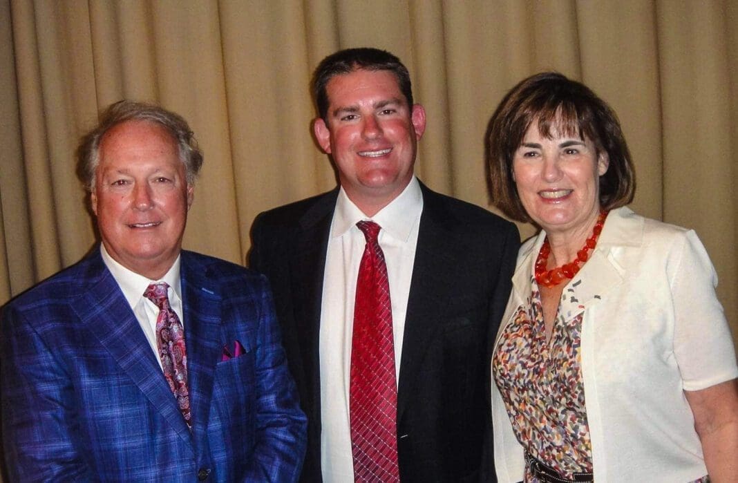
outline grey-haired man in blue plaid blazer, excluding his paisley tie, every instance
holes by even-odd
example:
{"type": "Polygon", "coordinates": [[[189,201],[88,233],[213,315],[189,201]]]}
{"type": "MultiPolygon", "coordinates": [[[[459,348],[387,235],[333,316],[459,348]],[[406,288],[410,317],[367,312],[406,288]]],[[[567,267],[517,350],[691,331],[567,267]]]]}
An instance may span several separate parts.
{"type": "Polygon", "coordinates": [[[2,312],[10,481],[294,481],[306,418],[266,279],[181,250],[202,162],[189,126],[123,101],[79,154],[102,243],[2,312]],[[184,326],[191,426],[142,295],[159,282],[184,326]]]}

